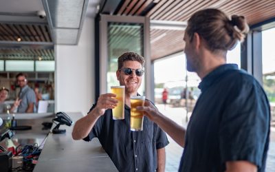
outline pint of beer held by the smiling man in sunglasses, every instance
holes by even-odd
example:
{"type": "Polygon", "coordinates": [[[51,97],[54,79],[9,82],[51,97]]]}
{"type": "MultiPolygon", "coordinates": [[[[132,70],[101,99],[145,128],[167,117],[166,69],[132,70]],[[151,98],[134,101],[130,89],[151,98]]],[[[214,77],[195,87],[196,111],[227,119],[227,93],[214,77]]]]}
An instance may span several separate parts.
{"type": "Polygon", "coordinates": [[[124,120],[125,86],[112,86],[111,93],[115,94],[115,99],[118,100],[118,105],[112,109],[113,120],[124,120]]]}

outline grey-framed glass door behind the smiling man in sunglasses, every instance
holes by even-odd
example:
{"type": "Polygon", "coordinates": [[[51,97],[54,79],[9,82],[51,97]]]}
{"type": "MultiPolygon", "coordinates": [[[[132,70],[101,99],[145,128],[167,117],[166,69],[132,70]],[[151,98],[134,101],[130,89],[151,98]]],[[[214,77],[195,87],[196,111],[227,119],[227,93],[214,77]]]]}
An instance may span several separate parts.
{"type": "Polygon", "coordinates": [[[139,94],[151,98],[151,58],[149,19],[102,15],[100,19],[100,94],[119,85],[115,76],[118,57],[124,52],[136,52],[145,58],[145,75],[139,94]],[[148,81],[149,80],[149,81],[148,81]],[[147,84],[147,85],[146,85],[147,84]]]}

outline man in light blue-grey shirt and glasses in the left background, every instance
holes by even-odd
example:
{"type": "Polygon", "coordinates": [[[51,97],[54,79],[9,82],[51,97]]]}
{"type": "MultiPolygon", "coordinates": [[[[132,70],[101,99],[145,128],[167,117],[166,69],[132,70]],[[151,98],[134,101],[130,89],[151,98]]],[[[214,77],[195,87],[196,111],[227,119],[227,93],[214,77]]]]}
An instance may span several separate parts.
{"type": "Polygon", "coordinates": [[[20,87],[19,100],[21,101],[18,113],[33,113],[35,111],[36,96],[34,90],[28,86],[27,76],[23,73],[17,74],[17,85],[20,87]]]}

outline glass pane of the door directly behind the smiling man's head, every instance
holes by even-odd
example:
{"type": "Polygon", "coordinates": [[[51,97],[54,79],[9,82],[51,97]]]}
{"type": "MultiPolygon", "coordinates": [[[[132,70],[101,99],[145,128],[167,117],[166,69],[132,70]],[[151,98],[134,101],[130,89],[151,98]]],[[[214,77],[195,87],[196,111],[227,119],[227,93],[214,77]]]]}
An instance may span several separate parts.
{"type": "MultiPolygon", "coordinates": [[[[142,23],[108,23],[108,71],[107,90],[110,92],[111,86],[119,85],[116,78],[118,69],[118,57],[124,52],[136,52],[144,56],[143,49],[144,27],[142,23]]],[[[144,93],[144,78],[138,92],[144,93]]]]}

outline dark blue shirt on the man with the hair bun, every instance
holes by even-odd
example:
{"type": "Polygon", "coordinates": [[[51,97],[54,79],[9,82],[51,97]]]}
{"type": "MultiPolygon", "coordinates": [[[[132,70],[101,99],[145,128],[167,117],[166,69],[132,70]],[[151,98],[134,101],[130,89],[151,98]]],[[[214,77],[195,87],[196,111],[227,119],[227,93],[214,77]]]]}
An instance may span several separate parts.
{"type": "Polygon", "coordinates": [[[204,77],[199,89],[179,171],[225,171],[225,162],[236,160],[265,171],[270,105],[261,85],[226,64],[204,77]]]}

